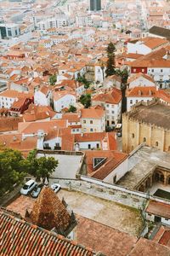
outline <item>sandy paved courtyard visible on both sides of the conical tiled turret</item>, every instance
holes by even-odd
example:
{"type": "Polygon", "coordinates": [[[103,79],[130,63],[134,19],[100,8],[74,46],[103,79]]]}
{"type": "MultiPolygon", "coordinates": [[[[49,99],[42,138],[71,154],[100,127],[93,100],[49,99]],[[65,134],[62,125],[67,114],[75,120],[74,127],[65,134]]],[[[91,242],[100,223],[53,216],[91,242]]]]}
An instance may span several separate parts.
{"type": "MultiPolygon", "coordinates": [[[[78,215],[93,219],[117,230],[125,231],[133,236],[139,235],[139,230],[142,229],[140,214],[131,207],[65,189],[61,189],[58,195],[60,199],[64,197],[69,208],[78,215]]],[[[20,195],[7,208],[14,212],[20,212],[24,217],[26,209],[31,211],[34,201],[31,197],[20,195]]]]}

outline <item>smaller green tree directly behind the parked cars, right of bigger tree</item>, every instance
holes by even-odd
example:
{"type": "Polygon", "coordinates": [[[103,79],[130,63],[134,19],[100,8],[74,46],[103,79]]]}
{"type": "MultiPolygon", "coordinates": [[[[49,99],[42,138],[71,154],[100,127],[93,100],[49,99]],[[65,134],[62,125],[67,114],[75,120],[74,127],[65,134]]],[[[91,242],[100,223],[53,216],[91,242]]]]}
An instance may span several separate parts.
{"type": "Polygon", "coordinates": [[[58,160],[55,160],[54,157],[42,156],[40,158],[37,158],[36,149],[30,152],[27,160],[30,163],[28,172],[34,177],[37,177],[37,179],[40,179],[42,177],[43,183],[45,181],[45,178],[48,178],[59,164],[58,160]]]}

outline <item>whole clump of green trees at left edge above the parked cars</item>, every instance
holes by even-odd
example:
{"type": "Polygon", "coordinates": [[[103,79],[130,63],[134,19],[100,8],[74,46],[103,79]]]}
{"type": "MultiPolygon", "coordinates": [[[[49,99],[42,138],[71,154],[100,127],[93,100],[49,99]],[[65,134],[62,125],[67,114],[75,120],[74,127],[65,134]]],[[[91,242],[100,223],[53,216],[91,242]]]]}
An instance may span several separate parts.
{"type": "Polygon", "coordinates": [[[18,150],[5,148],[0,151],[0,196],[13,190],[14,184],[20,184],[28,173],[44,181],[54,172],[58,161],[45,156],[37,159],[36,154],[37,150],[32,150],[25,160],[18,150]]]}

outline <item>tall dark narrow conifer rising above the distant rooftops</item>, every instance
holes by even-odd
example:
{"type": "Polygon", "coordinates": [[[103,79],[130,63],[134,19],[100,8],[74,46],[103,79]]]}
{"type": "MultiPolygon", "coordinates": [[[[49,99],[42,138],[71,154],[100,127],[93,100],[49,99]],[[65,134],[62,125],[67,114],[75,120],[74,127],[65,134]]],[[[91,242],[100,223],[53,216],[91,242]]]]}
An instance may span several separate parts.
{"type": "Polygon", "coordinates": [[[116,73],[115,69],[115,45],[113,43],[108,44],[107,46],[107,67],[105,70],[106,77],[111,76],[116,73]]]}

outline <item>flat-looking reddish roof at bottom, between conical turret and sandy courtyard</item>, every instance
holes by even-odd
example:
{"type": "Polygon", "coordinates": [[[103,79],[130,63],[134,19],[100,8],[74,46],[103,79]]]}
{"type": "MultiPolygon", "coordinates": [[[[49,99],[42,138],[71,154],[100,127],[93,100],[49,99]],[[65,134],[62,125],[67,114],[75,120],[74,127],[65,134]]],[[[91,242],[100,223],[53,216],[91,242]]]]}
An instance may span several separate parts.
{"type": "Polygon", "coordinates": [[[77,241],[107,256],[127,256],[137,241],[135,236],[92,219],[77,216],[77,220],[77,241]]]}

